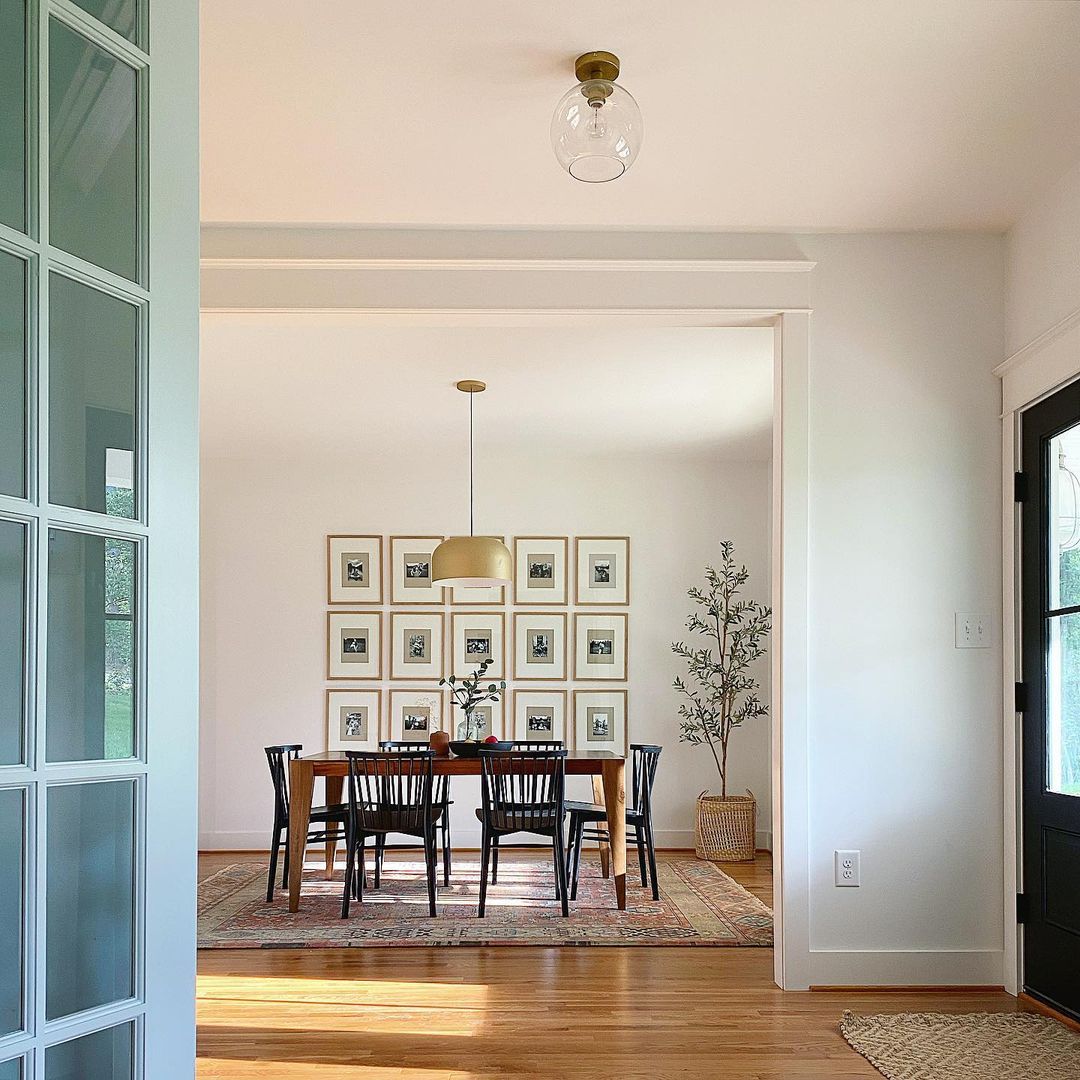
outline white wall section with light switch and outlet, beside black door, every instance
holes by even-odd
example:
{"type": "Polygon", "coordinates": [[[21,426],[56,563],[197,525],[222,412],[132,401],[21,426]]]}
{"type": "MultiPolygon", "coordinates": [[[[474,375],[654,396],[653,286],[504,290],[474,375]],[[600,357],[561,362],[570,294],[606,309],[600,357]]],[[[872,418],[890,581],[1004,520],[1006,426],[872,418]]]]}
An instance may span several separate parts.
{"type": "Polygon", "coordinates": [[[813,237],[811,982],[1001,982],[1002,242],[813,237]],[[862,887],[833,851],[862,851],[862,887]]]}

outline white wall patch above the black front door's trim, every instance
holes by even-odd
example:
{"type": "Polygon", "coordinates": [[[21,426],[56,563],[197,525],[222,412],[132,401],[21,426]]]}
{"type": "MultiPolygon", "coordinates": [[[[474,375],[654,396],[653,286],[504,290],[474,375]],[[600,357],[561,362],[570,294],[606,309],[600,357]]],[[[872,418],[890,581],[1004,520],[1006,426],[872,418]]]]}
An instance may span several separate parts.
{"type": "Polygon", "coordinates": [[[1080,308],[1080,163],[1008,235],[1007,348],[1012,354],[1080,308]]]}

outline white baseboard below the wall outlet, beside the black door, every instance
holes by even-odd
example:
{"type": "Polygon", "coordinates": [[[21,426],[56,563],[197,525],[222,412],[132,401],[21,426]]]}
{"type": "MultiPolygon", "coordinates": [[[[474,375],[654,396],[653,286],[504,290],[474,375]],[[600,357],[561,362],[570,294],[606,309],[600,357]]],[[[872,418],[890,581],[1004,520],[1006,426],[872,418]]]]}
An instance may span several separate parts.
{"type": "Polygon", "coordinates": [[[812,986],[1001,986],[1004,951],[811,949],[812,986]]]}

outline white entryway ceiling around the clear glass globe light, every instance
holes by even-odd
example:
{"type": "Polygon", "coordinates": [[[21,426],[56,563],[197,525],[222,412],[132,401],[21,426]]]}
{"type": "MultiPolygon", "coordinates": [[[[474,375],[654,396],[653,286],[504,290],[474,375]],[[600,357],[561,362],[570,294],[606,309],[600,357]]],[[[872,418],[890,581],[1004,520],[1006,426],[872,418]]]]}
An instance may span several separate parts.
{"type": "Polygon", "coordinates": [[[204,0],[202,145],[215,222],[998,230],[1080,160],[1080,3],[204,0]],[[589,49],[610,185],[548,138],[589,49]]]}

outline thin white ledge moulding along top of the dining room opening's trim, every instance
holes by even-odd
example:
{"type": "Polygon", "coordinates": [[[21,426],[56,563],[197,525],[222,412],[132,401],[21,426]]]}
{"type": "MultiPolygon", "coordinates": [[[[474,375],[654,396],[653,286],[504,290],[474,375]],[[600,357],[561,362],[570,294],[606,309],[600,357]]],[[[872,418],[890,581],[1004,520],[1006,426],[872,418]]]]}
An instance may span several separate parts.
{"type": "Polygon", "coordinates": [[[807,259],[399,259],[399,258],[221,258],[207,256],[204,270],[546,270],[557,273],[809,273],[807,259]]]}

